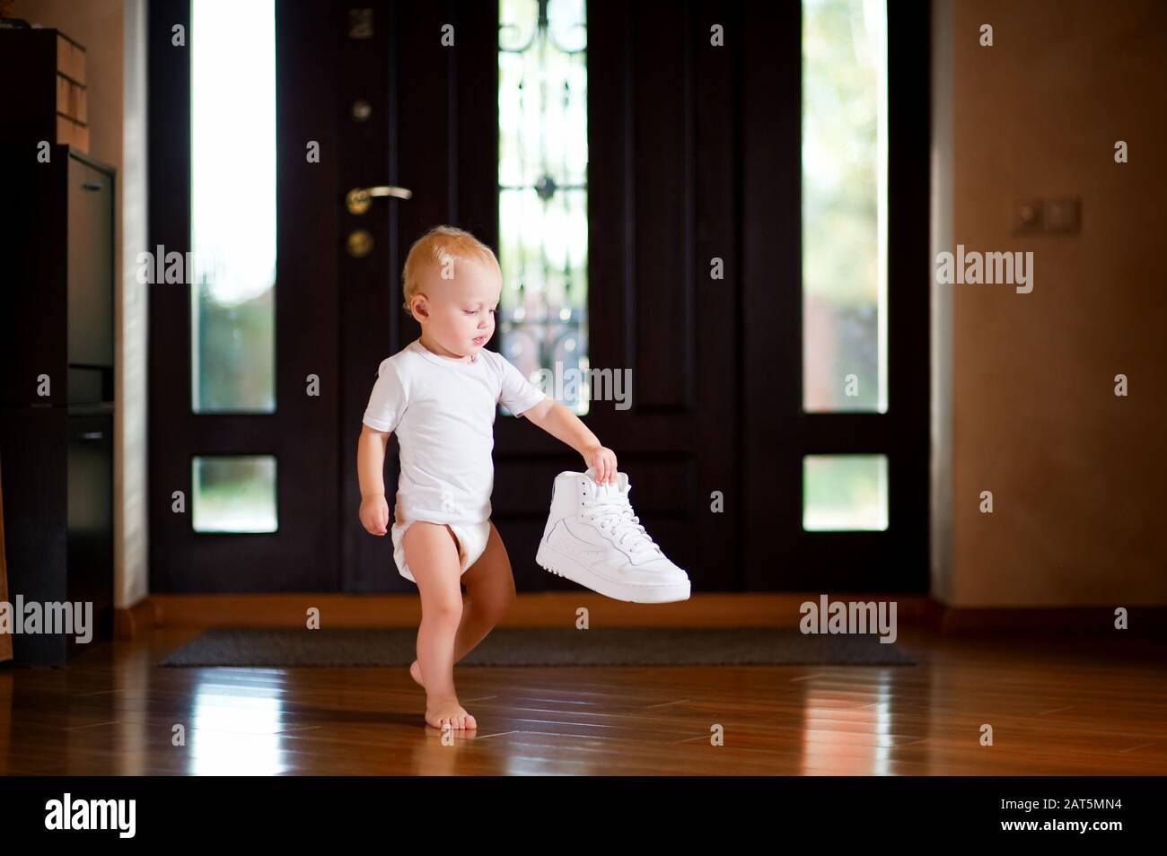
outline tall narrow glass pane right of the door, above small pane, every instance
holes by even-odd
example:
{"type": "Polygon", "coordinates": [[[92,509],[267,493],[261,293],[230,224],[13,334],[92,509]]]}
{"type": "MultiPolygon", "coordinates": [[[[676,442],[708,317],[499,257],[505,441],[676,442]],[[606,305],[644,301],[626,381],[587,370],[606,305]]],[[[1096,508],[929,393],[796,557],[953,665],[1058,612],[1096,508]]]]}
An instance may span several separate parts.
{"type": "Polygon", "coordinates": [[[802,7],[803,409],[886,413],[886,0],[802,7]]]}

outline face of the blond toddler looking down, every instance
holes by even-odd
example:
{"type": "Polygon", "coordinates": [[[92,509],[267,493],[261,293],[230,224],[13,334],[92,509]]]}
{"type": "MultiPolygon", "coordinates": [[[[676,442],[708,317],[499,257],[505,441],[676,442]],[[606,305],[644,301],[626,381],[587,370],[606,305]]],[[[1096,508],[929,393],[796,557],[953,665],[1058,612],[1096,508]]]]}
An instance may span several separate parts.
{"type": "Polygon", "coordinates": [[[495,332],[495,310],[503,280],[498,269],[477,261],[453,259],[445,268],[434,267],[413,303],[413,317],[431,344],[446,356],[477,353],[495,332]],[[443,269],[452,274],[443,279],[443,269]]]}

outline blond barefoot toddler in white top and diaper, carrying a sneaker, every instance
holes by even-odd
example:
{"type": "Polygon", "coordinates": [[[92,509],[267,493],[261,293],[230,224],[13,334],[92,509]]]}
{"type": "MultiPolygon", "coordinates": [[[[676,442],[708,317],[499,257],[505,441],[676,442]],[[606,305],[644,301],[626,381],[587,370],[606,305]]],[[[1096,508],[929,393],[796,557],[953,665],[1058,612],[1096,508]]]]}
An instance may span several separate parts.
{"type": "Polygon", "coordinates": [[[421,595],[410,674],[426,690],[426,722],[439,729],[477,728],[457,702],[454,664],[515,598],[506,548],[490,521],[497,405],[575,449],[598,484],[616,482],[615,452],[485,350],[501,290],[498,260],[470,233],[438,226],[418,239],[405,260],[404,293],[421,336],[382,362],[357,448],[361,522],[373,535],[390,533],[399,573],[421,595]],[[392,431],[401,477],[389,528],[383,472],[392,431]]]}

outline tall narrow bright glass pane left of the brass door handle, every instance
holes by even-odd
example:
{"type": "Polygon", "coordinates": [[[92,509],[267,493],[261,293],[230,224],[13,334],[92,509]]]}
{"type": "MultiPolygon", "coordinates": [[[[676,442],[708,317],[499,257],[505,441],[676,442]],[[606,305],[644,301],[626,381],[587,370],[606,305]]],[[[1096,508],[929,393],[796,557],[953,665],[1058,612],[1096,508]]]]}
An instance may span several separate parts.
{"type": "Polygon", "coordinates": [[[190,5],[191,408],[275,409],[275,12],[190,5]]]}

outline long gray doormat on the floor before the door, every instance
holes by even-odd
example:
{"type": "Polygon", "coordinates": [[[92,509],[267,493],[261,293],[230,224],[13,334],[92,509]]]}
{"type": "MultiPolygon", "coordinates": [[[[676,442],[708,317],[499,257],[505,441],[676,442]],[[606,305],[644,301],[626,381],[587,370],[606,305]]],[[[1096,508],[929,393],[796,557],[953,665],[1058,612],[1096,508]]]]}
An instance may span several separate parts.
{"type": "MultiPolygon", "coordinates": [[[[408,666],[410,627],[215,627],[160,666],[408,666]]],[[[459,666],[915,666],[878,636],[804,634],[797,627],[498,627],[459,666]]]]}

